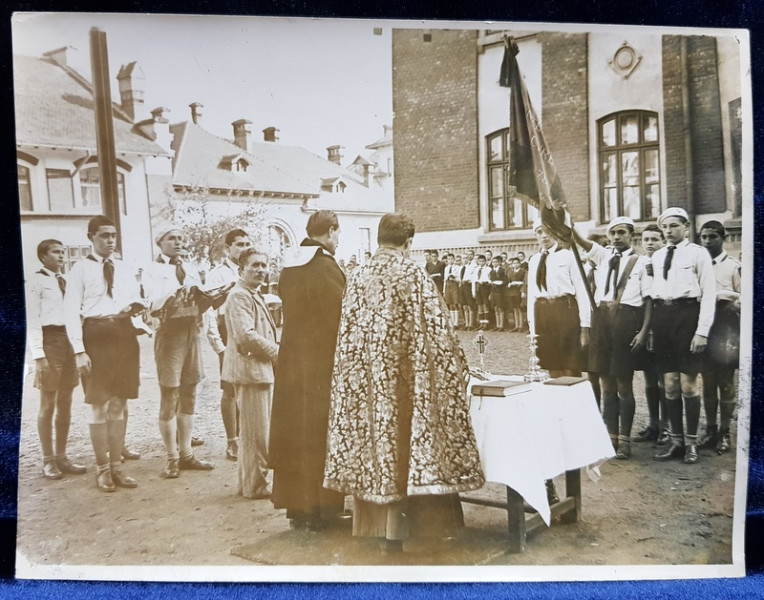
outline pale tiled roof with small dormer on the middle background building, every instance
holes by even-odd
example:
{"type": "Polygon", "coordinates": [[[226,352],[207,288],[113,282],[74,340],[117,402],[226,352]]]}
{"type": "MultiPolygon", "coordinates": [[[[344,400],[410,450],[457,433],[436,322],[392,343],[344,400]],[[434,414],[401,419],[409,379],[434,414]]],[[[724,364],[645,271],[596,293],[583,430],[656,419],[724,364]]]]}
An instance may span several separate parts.
{"type": "Polygon", "coordinates": [[[348,194],[368,192],[354,173],[305,148],[261,142],[245,151],[191,121],[171,125],[170,132],[174,135],[176,186],[305,197],[321,194],[323,180],[342,177],[348,184],[348,194]],[[232,156],[245,159],[249,163],[247,170],[228,170],[232,156]]]}

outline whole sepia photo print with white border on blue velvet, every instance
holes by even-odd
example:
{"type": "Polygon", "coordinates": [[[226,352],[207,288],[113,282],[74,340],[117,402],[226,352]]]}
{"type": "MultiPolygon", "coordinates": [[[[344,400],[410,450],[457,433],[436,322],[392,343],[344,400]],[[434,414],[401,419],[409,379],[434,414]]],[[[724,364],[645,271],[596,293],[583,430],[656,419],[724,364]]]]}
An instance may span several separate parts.
{"type": "Polygon", "coordinates": [[[743,577],[741,29],[15,13],[16,577],[743,577]]]}

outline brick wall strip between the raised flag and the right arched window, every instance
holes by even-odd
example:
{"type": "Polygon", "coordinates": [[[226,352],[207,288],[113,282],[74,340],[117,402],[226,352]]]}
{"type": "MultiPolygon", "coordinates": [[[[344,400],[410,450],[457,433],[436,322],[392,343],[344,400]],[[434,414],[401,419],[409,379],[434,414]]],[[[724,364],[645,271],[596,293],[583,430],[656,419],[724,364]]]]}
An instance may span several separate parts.
{"type": "MultiPolygon", "coordinates": [[[[589,103],[587,34],[544,33],[542,127],[562,182],[568,209],[588,220],[589,103]]],[[[538,111],[538,107],[534,107],[538,111]]]]}

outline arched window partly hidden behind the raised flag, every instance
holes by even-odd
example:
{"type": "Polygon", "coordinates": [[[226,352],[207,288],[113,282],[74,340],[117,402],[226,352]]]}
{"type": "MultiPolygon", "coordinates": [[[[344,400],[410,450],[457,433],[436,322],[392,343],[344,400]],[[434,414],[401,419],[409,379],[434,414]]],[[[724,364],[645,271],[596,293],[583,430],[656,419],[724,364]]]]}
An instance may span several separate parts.
{"type": "Polygon", "coordinates": [[[528,229],[538,216],[538,211],[520,198],[512,198],[507,190],[509,169],[509,128],[501,129],[486,137],[488,160],[488,228],[528,229]]]}

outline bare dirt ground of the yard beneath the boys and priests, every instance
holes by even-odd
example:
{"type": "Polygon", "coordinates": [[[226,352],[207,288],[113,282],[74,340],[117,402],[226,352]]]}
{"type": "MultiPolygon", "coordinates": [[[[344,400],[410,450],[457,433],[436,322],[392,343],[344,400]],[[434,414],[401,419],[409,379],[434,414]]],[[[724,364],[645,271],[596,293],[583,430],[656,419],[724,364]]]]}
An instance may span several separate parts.
{"type": "MultiPolygon", "coordinates": [[[[527,340],[518,333],[488,332],[487,367],[497,373],[527,370],[527,340]]],[[[460,332],[471,364],[478,364],[474,333],[460,332]]],[[[288,527],[284,511],[267,500],[236,495],[236,464],[225,460],[219,413],[217,360],[205,344],[206,378],[199,386],[195,435],[206,443],[197,455],[215,460],[211,472],[159,473],[164,450],[157,428],[158,387],[151,340],[142,338],[141,398],[130,401],[127,442],[141,453],[125,471],[136,489],[104,494],[95,488],[88,411],[75,390],[69,456],[88,464],[85,475],[42,478],[36,434],[37,390],[25,381],[19,463],[17,571],[19,575],[69,575],[71,565],[725,565],[732,562],[735,453],[701,451],[697,465],[652,460],[656,447],[632,444],[628,461],[610,460],[593,481],[582,475],[582,518],[529,537],[523,554],[506,552],[506,515],[464,504],[465,529],[456,539],[412,541],[402,556],[383,555],[369,540],[350,535],[349,520],[311,533],[288,527]],[[46,571],[38,567],[49,568],[46,571]]],[[[641,374],[635,380],[634,431],[646,424],[641,374]]],[[[701,423],[702,429],[702,423],[701,423]]],[[[733,434],[733,443],[736,436],[733,434]]],[[[544,440],[528,452],[543,452],[544,440]]],[[[560,490],[564,477],[557,478],[560,490]]],[[[481,492],[501,499],[504,488],[481,492]]],[[[742,547],[742,545],[741,545],[742,547]]],[[[242,570],[258,579],[256,570],[242,570]]],[[[95,576],[104,573],[95,570],[95,576]]],[[[143,578],[128,571],[128,578],[143,578]]],[[[165,578],[156,573],[148,578],[165,578]]],[[[192,572],[171,578],[196,579],[192,572]]],[[[238,578],[238,577],[237,577],[238,578]]]]}

